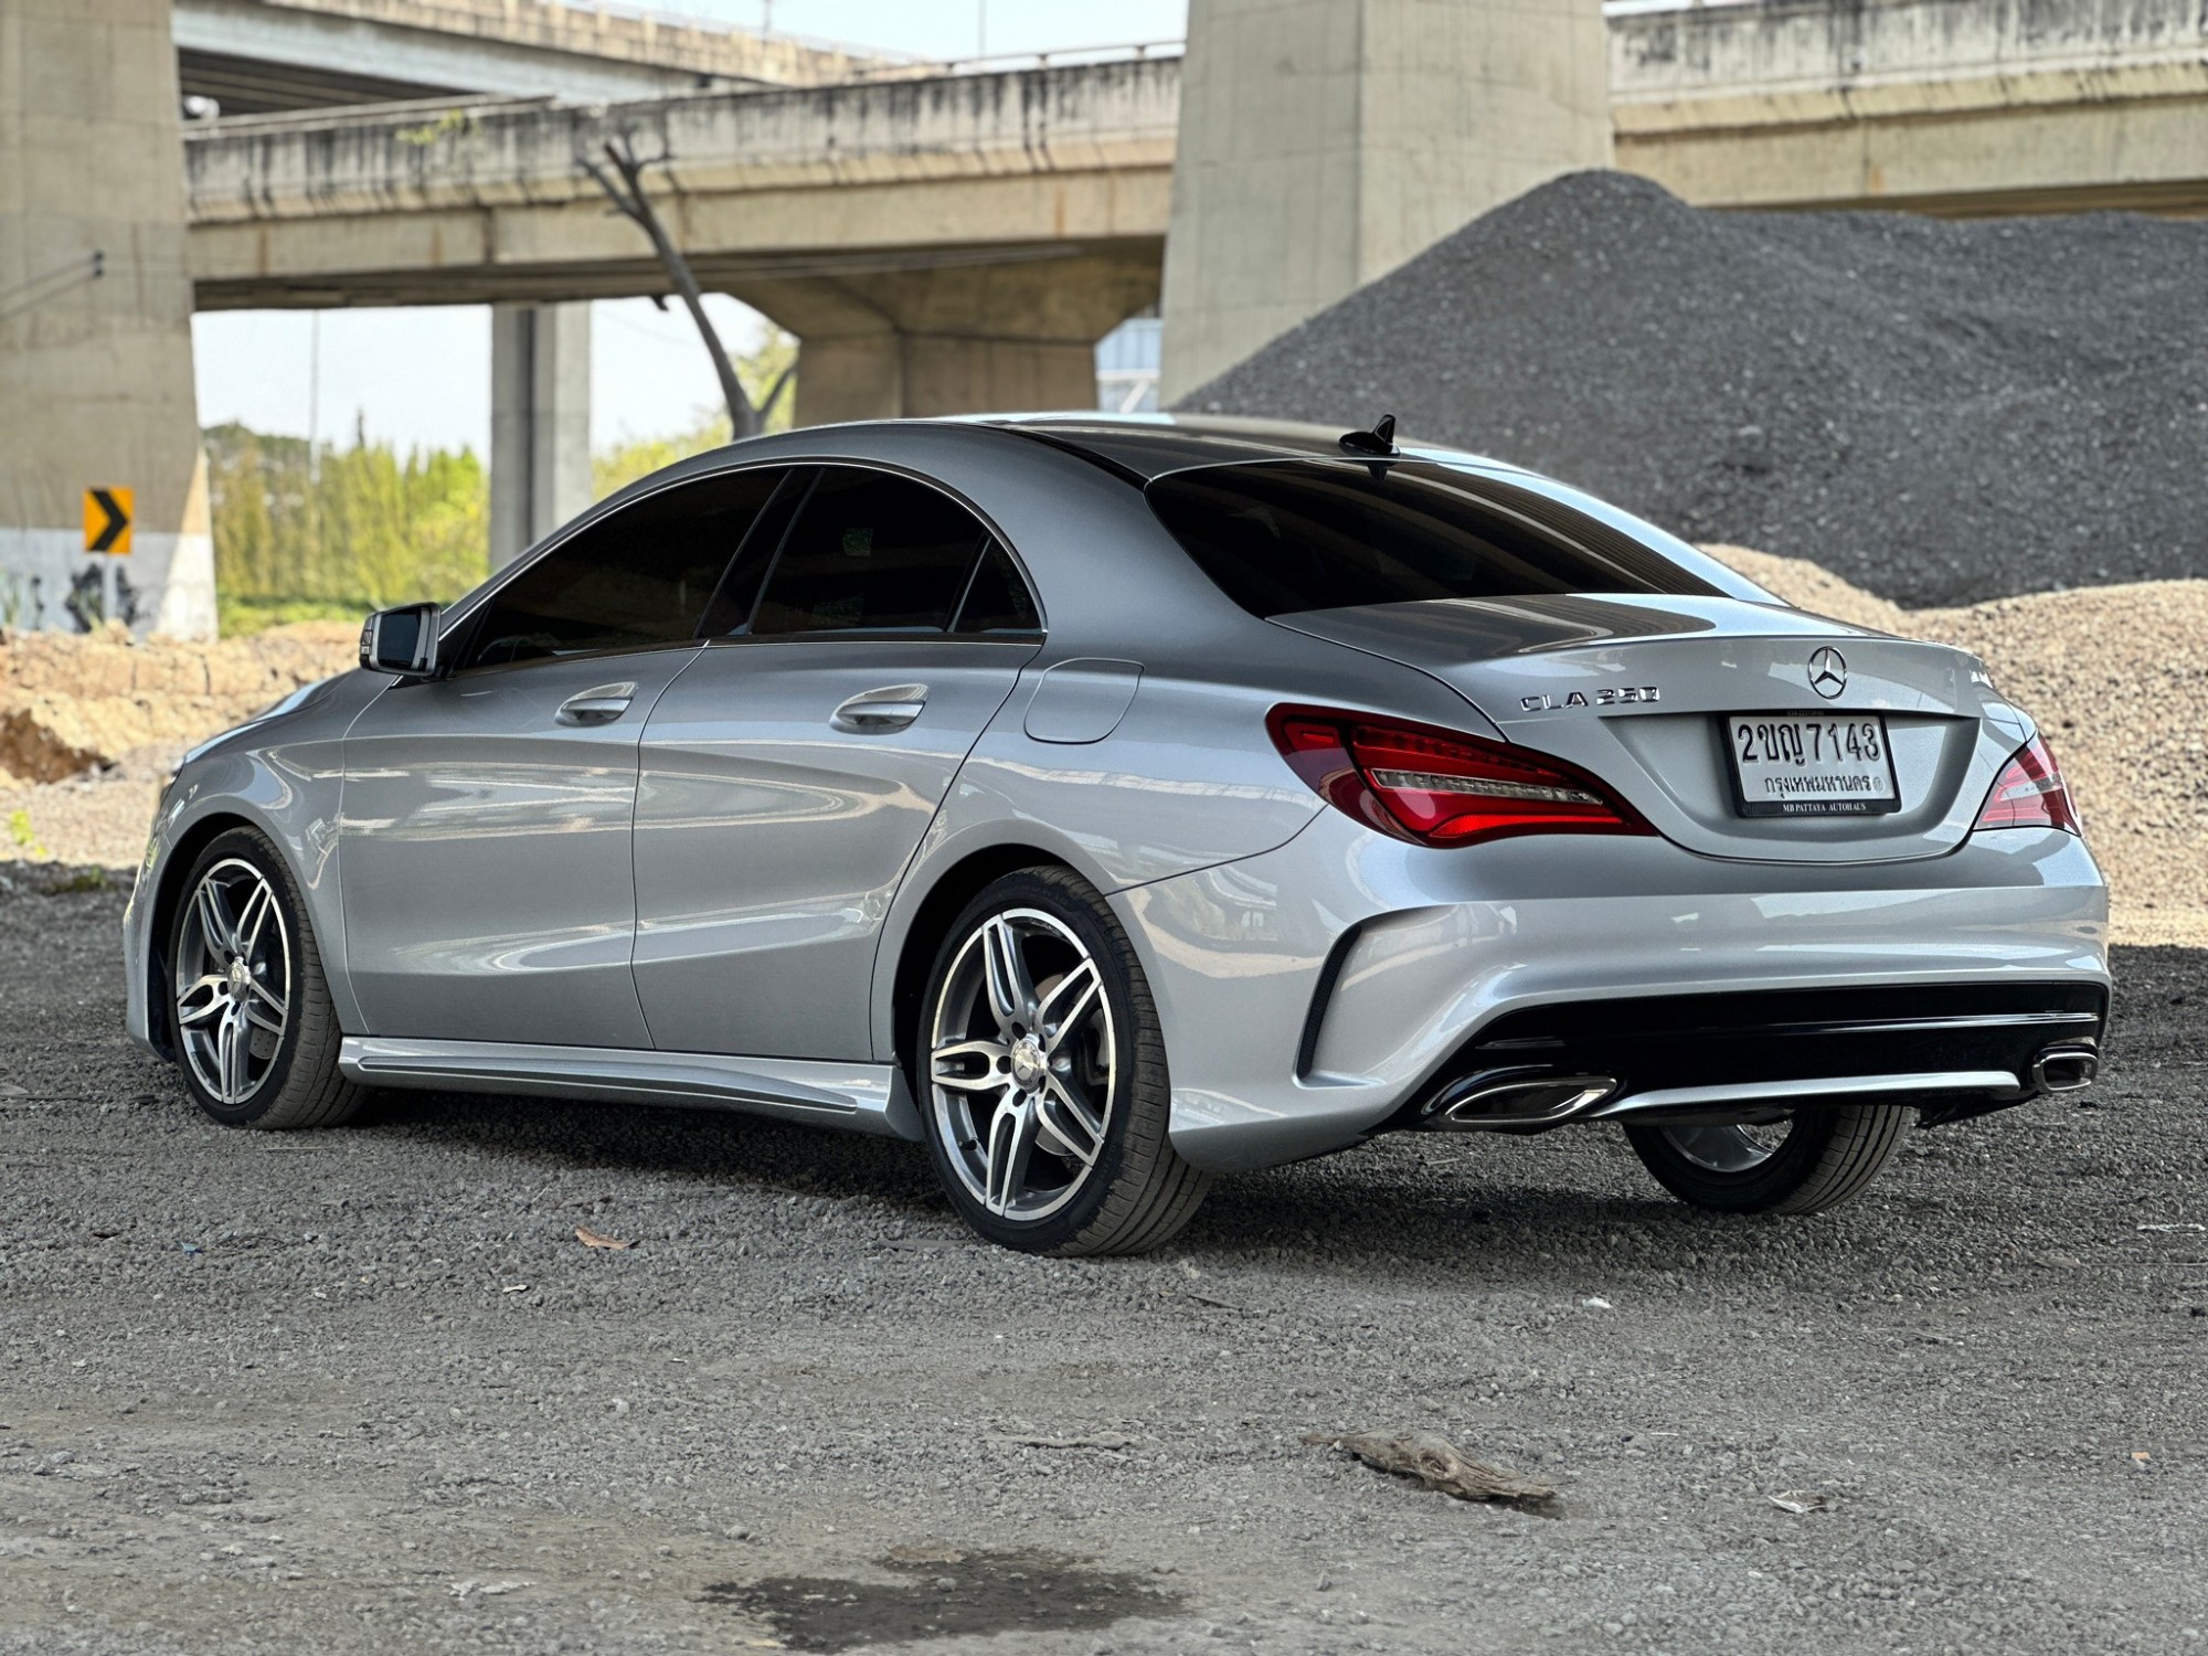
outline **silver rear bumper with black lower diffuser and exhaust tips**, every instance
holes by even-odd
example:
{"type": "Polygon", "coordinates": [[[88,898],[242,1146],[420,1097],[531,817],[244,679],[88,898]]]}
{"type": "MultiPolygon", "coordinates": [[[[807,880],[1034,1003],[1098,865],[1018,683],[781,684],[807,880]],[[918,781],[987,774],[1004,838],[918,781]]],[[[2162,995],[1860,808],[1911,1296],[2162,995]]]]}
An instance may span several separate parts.
{"type": "MultiPolygon", "coordinates": [[[[1490,1058],[1484,1038],[1519,1038],[1510,1031],[1563,1042],[1541,1069],[1579,1073],[1585,1060],[1585,1073],[1614,1075],[1594,1066],[1601,1058],[1638,1093],[1747,1097],[1824,1078],[1970,1113],[2031,1093],[2034,1055],[2098,1038],[2106,1016],[2106,890],[2084,846],[2056,830],[1983,832],[1906,863],[1802,866],[1698,857],[1663,839],[1437,852],[1325,813],[1274,852],[1113,903],[1166,1027],[1172,1144],[1219,1170],[1320,1155],[1415,1119],[1490,1058]],[[1800,1005],[1868,998],[1811,1016],[1740,1000],[1786,994],[1800,1005]],[[1934,996],[1921,1009],[1952,1007],[1950,1018],[2080,1022],[1844,1040],[1769,1029],[1894,1022],[1879,1009],[1912,996],[1934,996]],[[1678,1036],[1667,1020],[1680,1016],[1705,1036],[1627,1038],[1630,1002],[1641,1002],[1638,1036],[1678,1036]],[[1733,1036],[1709,1040],[1727,1020],[1733,1036]]],[[[1601,1104],[1630,1097],[1623,1086],[1601,1104]]]]}

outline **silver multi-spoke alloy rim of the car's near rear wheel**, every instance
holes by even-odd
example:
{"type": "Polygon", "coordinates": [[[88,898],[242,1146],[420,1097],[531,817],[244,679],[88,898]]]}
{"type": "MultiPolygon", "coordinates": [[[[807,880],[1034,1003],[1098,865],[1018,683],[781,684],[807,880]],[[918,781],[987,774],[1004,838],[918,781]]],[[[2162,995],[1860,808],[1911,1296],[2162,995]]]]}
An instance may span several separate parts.
{"type": "Polygon", "coordinates": [[[1047,1219],[1104,1155],[1117,1040],[1104,976],[1051,914],[967,934],[936,998],[930,1100],[958,1179],[1000,1219],[1047,1219]]]}

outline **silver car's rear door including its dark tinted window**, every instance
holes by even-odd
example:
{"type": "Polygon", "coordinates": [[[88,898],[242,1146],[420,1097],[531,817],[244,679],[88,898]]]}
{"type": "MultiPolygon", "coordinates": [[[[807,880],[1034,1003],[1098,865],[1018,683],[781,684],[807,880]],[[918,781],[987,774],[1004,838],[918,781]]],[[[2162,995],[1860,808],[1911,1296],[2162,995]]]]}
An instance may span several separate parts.
{"type": "Polygon", "coordinates": [[[824,466],[777,508],[645,726],[636,987],[665,1051],[854,1062],[890,896],[1042,631],[930,484],[824,466]]]}

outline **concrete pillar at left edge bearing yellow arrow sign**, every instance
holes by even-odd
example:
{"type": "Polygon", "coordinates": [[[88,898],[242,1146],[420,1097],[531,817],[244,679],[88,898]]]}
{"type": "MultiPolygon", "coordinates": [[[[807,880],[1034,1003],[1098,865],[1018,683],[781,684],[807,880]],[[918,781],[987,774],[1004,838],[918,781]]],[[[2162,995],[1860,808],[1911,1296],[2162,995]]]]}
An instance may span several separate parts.
{"type": "Polygon", "coordinates": [[[168,0],[0,0],[0,625],[214,636],[181,168],[168,0]]]}

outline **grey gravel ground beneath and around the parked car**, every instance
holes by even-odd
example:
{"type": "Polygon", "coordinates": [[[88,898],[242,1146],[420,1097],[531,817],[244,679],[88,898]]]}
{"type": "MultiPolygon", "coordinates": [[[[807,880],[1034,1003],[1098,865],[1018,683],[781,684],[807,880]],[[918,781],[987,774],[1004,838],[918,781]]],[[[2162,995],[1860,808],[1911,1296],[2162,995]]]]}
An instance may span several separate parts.
{"type": "Polygon", "coordinates": [[[119,905],[0,894],[0,1652],[2208,1649],[2208,954],[1824,1219],[1398,1137],[1086,1263],[740,1117],[216,1128],[119,905]],[[1413,1426],[1559,1515],[1298,1442],[1413,1426]]]}

